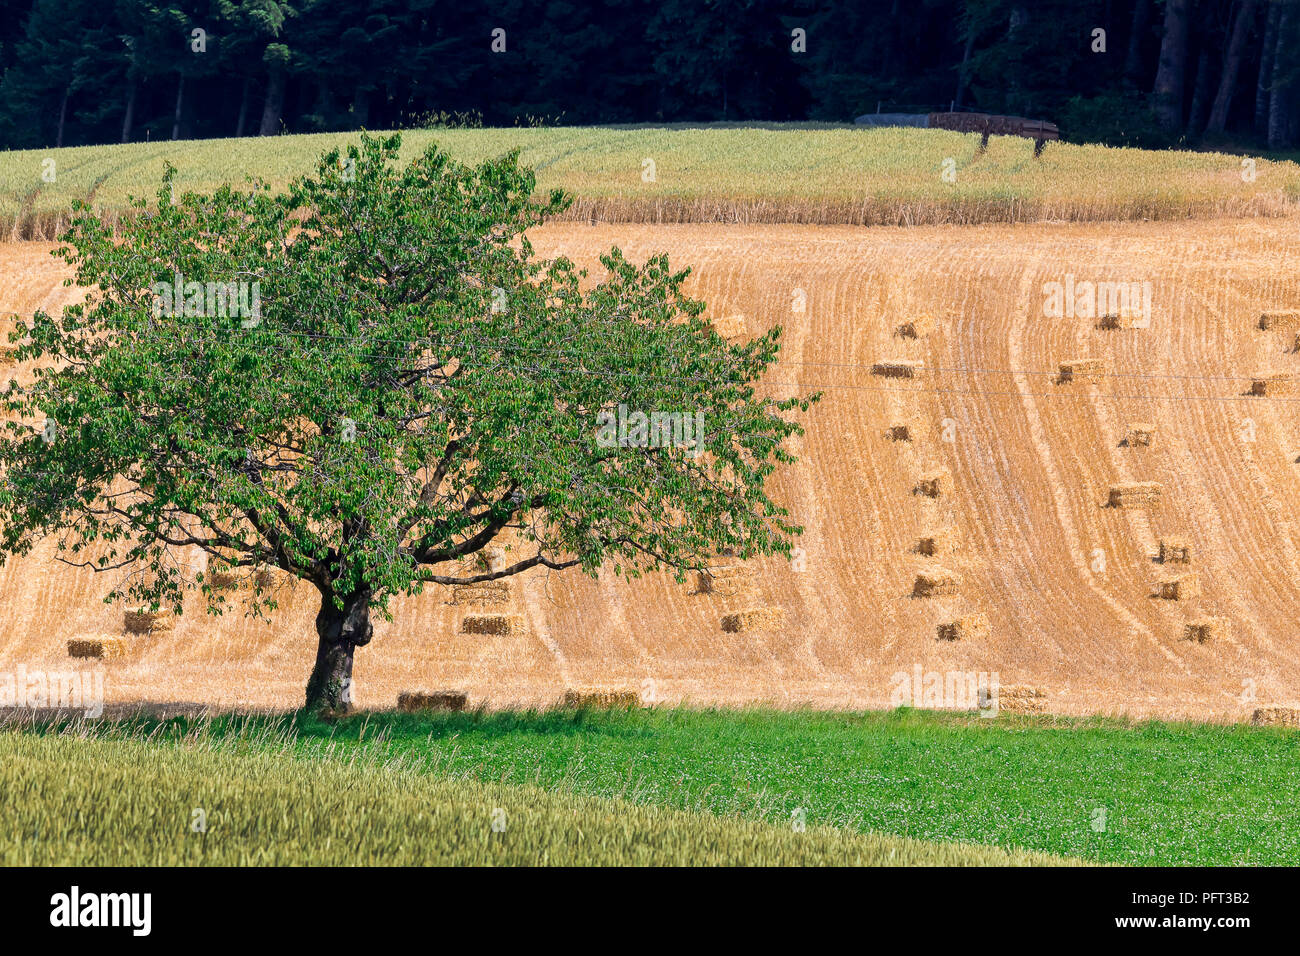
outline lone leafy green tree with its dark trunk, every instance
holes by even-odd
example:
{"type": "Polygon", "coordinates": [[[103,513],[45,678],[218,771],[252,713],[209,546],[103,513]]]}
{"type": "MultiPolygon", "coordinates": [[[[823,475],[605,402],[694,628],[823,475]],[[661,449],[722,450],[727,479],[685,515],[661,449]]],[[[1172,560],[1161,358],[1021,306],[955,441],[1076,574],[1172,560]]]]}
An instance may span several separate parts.
{"type": "Polygon", "coordinates": [[[399,144],[278,195],[176,196],[169,168],[116,235],[78,206],[56,255],[87,300],[10,338],[36,371],[0,395],[0,561],[57,536],[116,571],[108,600],[177,613],[198,591],[220,614],[218,571],[311,581],[307,705],[342,711],[394,594],[789,554],[764,483],[815,397],[757,393],[780,330],[727,342],[664,256],[611,250],[599,281],[536,258],[525,230],[567,199],[534,200],[517,155],[403,168],[399,144]],[[506,536],[504,566],[472,559],[506,536]]]}

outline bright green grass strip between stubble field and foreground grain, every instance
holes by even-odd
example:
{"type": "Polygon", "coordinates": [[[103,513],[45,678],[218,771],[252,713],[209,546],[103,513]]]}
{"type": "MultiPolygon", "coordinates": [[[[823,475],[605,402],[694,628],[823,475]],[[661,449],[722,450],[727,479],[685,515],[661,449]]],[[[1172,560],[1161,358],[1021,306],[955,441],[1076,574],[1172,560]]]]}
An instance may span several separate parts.
{"type": "MultiPolygon", "coordinates": [[[[292,753],[312,767],[396,758],[416,779],[619,800],[774,830],[789,829],[798,810],[810,832],[1098,862],[1280,865],[1300,856],[1300,734],[1286,730],[681,709],[364,714],[338,724],[138,719],[95,732],[151,735],[156,749],[188,736],[222,754],[292,753]]],[[[25,805],[38,817],[60,813],[48,799],[29,796],[25,805]]]]}

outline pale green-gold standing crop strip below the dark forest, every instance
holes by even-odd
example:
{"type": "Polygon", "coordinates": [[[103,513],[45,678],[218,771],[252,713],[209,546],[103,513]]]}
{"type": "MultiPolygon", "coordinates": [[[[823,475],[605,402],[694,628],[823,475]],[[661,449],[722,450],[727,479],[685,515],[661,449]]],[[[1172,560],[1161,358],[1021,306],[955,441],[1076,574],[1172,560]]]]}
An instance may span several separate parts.
{"type": "MultiPolygon", "coordinates": [[[[1032,143],[945,130],[811,124],[412,130],[404,155],[437,140],[465,161],[521,150],[538,183],[563,187],[575,220],[913,225],[1275,215],[1300,202],[1300,166],[1210,152],[1032,143]],[[647,181],[654,164],[653,181],[647,181]],[[956,182],[942,178],[952,160],[956,182]]],[[[52,238],[73,199],[109,216],[152,198],[165,161],[181,190],[259,176],[282,186],[355,134],[133,143],[0,152],[0,235],[52,238]],[[53,182],[42,178],[52,160],[53,182]]]]}

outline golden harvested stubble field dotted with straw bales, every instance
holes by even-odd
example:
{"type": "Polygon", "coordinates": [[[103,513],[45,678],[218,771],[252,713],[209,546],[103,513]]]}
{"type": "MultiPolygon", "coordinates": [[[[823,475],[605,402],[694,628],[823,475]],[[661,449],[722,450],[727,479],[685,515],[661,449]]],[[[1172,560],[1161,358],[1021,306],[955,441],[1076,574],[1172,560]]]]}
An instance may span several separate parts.
{"type": "MultiPolygon", "coordinates": [[[[1295,333],[1257,328],[1266,308],[1300,307],[1294,220],[564,224],[532,238],[586,264],[611,245],[638,260],[667,251],[696,267],[692,290],[724,334],[785,326],[766,388],[826,392],[800,464],[777,479],[806,527],[800,559],[758,562],[749,589],[729,596],[668,575],[572,572],[515,579],[500,607],[458,607],[430,589],[398,601],[359,650],[361,706],[391,706],[404,689],[508,705],[624,687],[666,702],[876,708],[892,676],[916,666],[996,671],[1067,714],[1236,721],[1300,700],[1300,390],[1249,394],[1260,375],[1300,375],[1295,333]],[[1149,328],[1044,316],[1044,285],[1070,276],[1149,282],[1149,328]],[[898,334],[923,316],[928,333],[898,334]],[[1061,382],[1060,364],[1075,359],[1104,360],[1105,375],[1061,382]],[[872,372],[880,362],[923,369],[885,377],[872,372]],[[1154,425],[1149,445],[1124,444],[1134,424],[1154,425]],[[939,496],[922,493],[942,470],[939,496]],[[1112,485],[1136,481],[1160,483],[1160,501],[1106,506],[1112,485]],[[939,538],[936,555],[918,549],[926,537],[939,538]],[[1190,566],[1157,559],[1174,537],[1190,566]],[[956,592],[914,596],[918,574],[942,571],[956,592]],[[1178,600],[1157,596],[1184,574],[1199,593],[1184,580],[1178,600]],[[777,620],[723,630],[746,609],[777,609],[777,620]],[[526,632],[460,633],[474,610],[520,614],[526,632]],[[965,615],[983,615],[987,632],[937,639],[965,615]],[[1188,640],[1187,624],[1206,618],[1212,639],[1188,640]]],[[[0,311],[75,294],[49,248],[0,246],[0,311]]],[[[51,555],[46,544],[0,570],[0,670],[66,667],[69,637],[121,630],[121,607],[101,602],[108,581],[51,555]]],[[[108,697],[298,705],[316,593],[286,581],[280,600],[270,624],[213,619],[195,601],[172,632],[131,637],[104,665],[108,697]]]]}

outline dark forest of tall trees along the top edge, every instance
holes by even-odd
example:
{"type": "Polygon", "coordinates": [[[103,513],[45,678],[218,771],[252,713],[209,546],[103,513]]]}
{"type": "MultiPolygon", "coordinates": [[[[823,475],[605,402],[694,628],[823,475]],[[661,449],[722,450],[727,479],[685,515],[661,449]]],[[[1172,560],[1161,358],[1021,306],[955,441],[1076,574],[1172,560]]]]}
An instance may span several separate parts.
{"type": "Polygon", "coordinates": [[[1300,0],[5,0],[0,146],[852,120],[1300,142],[1300,0]]]}

